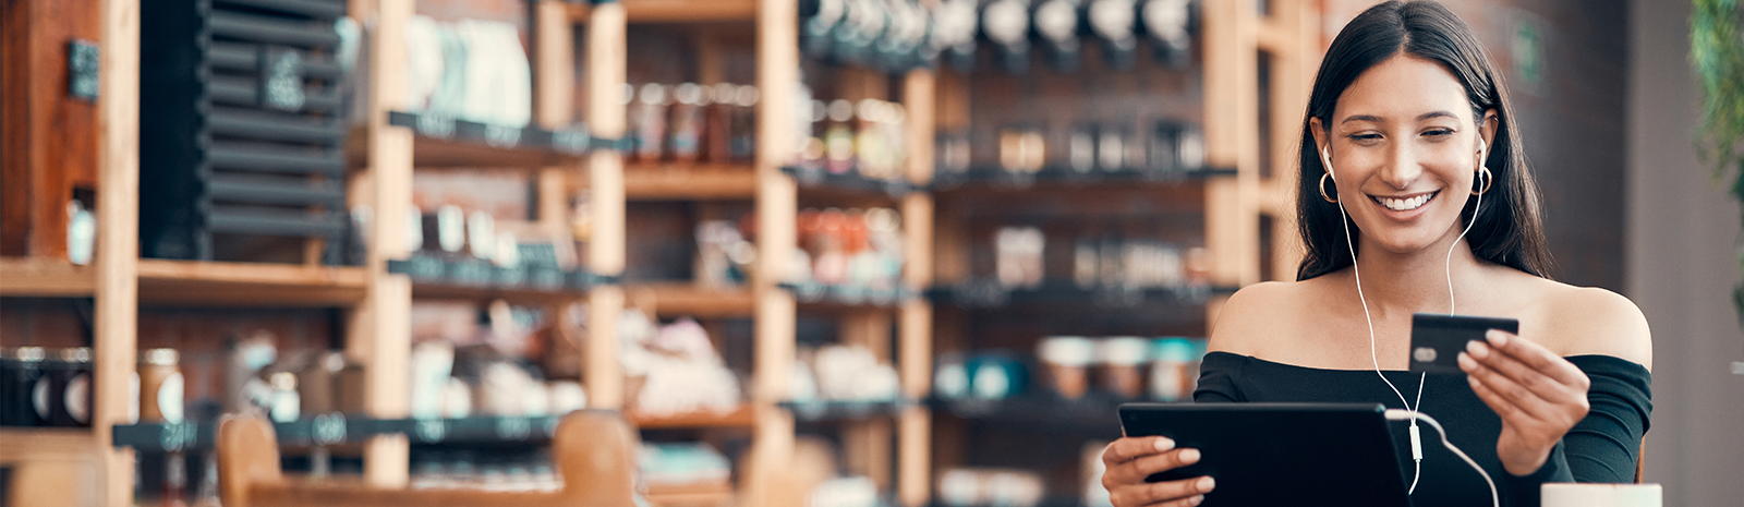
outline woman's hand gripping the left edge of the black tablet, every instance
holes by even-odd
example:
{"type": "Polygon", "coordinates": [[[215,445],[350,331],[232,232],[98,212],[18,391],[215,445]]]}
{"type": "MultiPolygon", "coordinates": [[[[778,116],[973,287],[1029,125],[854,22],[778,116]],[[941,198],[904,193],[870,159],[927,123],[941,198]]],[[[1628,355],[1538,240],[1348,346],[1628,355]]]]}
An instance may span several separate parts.
{"type": "Polygon", "coordinates": [[[1205,502],[1216,486],[1210,476],[1146,483],[1156,472],[1198,463],[1198,450],[1175,450],[1167,437],[1123,437],[1102,450],[1102,488],[1114,507],[1186,507],[1205,502]]]}

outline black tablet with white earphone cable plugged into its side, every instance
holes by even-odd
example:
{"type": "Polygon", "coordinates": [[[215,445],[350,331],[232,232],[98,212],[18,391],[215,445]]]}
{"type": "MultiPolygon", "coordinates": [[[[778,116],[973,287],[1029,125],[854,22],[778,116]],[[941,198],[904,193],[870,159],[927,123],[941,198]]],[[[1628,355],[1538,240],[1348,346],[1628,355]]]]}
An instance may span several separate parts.
{"type": "Polygon", "coordinates": [[[1407,507],[1406,477],[1381,404],[1128,402],[1128,437],[1165,436],[1200,462],[1146,481],[1212,476],[1200,505],[1407,507]]]}

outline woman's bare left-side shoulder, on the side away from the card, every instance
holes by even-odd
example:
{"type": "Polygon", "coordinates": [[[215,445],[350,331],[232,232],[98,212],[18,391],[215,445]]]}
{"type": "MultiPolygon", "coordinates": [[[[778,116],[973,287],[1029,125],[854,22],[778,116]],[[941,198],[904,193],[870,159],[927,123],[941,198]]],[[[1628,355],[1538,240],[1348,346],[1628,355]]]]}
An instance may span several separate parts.
{"type": "Polygon", "coordinates": [[[1268,338],[1289,331],[1294,308],[1311,289],[1311,282],[1259,282],[1242,287],[1217,310],[1209,350],[1264,357],[1264,347],[1277,343],[1268,338]]]}

